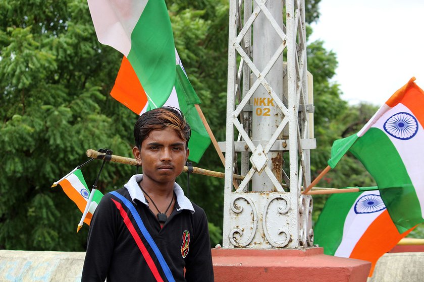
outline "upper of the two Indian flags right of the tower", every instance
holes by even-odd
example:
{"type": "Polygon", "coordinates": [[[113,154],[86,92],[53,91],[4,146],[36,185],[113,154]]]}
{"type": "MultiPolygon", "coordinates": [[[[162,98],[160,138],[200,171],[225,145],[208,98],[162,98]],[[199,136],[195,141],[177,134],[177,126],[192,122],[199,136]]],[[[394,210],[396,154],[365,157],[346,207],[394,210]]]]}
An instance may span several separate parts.
{"type": "Polygon", "coordinates": [[[336,140],[328,164],[350,151],[374,177],[399,232],[424,222],[424,92],[412,78],[356,134],[336,140]]]}

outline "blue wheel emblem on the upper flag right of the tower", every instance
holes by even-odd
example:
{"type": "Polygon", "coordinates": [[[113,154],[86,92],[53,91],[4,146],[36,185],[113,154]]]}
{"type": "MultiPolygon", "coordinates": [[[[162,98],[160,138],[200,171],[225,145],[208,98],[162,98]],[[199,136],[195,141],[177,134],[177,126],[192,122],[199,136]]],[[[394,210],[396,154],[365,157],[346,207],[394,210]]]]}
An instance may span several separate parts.
{"type": "Polygon", "coordinates": [[[416,118],[405,112],[400,112],[389,117],[383,127],[387,133],[400,140],[408,140],[418,132],[416,118]]]}

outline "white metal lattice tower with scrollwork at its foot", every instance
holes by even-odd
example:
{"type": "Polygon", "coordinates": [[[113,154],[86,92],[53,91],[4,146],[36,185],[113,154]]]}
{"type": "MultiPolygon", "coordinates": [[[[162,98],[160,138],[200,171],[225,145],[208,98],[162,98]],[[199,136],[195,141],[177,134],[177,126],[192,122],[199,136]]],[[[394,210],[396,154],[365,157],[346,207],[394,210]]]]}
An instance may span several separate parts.
{"type": "Polygon", "coordinates": [[[304,0],[230,0],[229,29],[223,247],[312,246],[304,0]]]}

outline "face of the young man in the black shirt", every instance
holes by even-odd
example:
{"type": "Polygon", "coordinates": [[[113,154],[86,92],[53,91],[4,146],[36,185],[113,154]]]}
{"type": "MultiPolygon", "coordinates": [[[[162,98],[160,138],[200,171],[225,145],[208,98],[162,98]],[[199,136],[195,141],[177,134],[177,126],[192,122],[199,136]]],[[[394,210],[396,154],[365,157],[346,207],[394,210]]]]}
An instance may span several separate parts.
{"type": "Polygon", "coordinates": [[[141,143],[141,150],[134,147],[133,154],[143,168],[143,182],[151,180],[163,185],[170,182],[173,184],[175,178],[181,174],[189,150],[177,131],[165,127],[162,130],[152,130],[141,143]]]}

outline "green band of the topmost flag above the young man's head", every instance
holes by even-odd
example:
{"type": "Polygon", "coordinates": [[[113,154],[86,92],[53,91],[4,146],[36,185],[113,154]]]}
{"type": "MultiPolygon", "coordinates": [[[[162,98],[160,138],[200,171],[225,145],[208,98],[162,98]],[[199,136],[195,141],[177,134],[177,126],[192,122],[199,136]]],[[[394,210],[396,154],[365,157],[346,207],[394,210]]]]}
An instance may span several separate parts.
{"type": "Polygon", "coordinates": [[[162,107],[175,78],[174,36],[164,0],[147,3],[131,33],[127,58],[150,98],[150,108],[162,107]]]}

